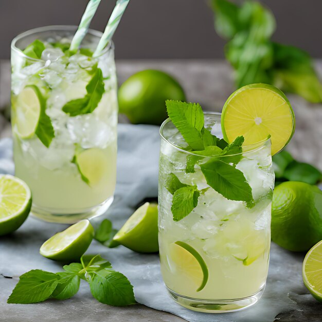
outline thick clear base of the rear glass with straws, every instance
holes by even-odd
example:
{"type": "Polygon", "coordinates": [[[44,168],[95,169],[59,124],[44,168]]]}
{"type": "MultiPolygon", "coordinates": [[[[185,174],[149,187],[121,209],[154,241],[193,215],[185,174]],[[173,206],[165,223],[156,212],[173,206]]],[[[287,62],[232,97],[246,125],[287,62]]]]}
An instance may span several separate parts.
{"type": "Polygon", "coordinates": [[[106,199],[98,206],[81,209],[77,212],[71,213],[68,209],[50,209],[42,208],[37,205],[32,205],[30,214],[36,218],[44,221],[60,224],[75,224],[82,219],[91,219],[97,216],[101,216],[106,210],[108,210],[113,202],[113,196],[106,199]]]}

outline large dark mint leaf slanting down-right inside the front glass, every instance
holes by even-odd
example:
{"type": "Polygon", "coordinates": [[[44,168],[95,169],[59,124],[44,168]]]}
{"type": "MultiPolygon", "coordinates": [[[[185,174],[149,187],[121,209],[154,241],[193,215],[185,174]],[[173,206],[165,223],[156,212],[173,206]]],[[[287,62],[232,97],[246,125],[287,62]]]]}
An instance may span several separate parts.
{"type": "Polygon", "coordinates": [[[225,198],[247,203],[254,201],[252,188],[240,170],[216,159],[201,164],[200,168],[207,184],[225,198]]]}

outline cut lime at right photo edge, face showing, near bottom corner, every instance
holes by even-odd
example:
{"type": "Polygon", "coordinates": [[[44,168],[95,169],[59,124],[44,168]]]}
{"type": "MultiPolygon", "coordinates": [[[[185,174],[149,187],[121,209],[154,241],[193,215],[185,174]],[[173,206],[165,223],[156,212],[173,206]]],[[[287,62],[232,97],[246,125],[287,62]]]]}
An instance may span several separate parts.
{"type": "Polygon", "coordinates": [[[322,302],[322,240],[306,255],[302,276],[305,286],[318,301],[322,302]]]}

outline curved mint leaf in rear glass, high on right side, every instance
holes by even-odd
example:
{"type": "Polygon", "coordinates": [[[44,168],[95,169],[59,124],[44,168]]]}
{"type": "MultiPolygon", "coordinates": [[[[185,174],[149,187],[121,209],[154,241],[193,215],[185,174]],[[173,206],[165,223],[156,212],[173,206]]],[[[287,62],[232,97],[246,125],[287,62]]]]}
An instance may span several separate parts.
{"type": "Polygon", "coordinates": [[[67,102],[62,110],[70,116],[77,116],[92,113],[97,108],[105,91],[102,70],[100,68],[95,68],[93,78],[86,86],[86,91],[85,97],[67,102]]]}

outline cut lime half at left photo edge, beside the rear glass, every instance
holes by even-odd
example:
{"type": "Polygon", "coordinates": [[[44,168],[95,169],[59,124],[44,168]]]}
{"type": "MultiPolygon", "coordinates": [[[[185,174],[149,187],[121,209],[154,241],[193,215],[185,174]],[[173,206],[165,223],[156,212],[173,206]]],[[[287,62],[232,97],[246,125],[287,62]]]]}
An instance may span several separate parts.
{"type": "Polygon", "coordinates": [[[31,192],[27,184],[10,174],[0,175],[0,236],[18,229],[30,208],[31,192]]]}

